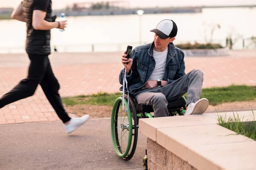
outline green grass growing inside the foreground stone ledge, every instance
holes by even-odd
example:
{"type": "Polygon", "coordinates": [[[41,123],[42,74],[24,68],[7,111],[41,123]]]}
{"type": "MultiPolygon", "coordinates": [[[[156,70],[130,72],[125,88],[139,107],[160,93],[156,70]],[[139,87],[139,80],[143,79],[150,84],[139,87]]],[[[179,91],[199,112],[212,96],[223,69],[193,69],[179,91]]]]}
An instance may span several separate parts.
{"type": "MultiPolygon", "coordinates": [[[[238,135],[244,135],[248,138],[252,138],[256,141],[256,121],[255,118],[253,121],[246,120],[244,121],[244,117],[242,120],[239,118],[239,115],[234,115],[234,118],[224,118],[218,117],[218,124],[222,127],[225,127],[229,130],[236,132],[238,135]]],[[[253,113],[254,115],[254,113],[253,113]]]]}

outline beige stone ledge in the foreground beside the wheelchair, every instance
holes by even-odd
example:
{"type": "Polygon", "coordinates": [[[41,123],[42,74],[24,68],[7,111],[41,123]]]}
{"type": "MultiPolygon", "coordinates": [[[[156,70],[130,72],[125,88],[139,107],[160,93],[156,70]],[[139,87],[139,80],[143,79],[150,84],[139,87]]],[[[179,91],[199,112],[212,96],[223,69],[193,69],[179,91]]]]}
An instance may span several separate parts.
{"type": "MultiPolygon", "coordinates": [[[[233,117],[233,114],[218,113],[223,118],[233,117]]],[[[256,141],[219,126],[218,115],[209,113],[140,119],[140,132],[152,141],[151,144],[148,142],[147,146],[148,160],[151,160],[149,164],[152,163],[152,166],[161,169],[160,164],[163,164],[163,161],[156,162],[154,159],[161,158],[159,155],[165,153],[166,158],[163,159],[173,162],[168,155],[175,155],[184,161],[184,164],[187,162],[189,168],[197,170],[256,169],[256,141]],[[166,151],[152,153],[151,145],[156,148],[160,145],[166,151]]],[[[243,117],[244,121],[255,118],[252,111],[239,112],[239,117],[243,117]]],[[[171,164],[170,162],[165,164],[171,164]]],[[[151,170],[153,169],[155,168],[151,170]]]]}

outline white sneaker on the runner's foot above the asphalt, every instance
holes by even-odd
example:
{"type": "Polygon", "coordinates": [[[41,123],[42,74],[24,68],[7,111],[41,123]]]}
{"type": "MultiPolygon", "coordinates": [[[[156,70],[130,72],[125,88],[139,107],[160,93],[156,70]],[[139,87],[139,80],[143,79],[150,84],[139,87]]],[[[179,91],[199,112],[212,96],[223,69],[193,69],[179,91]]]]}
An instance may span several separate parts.
{"type": "Polygon", "coordinates": [[[67,133],[72,133],[81,125],[83,125],[88,119],[89,115],[84,115],[81,118],[71,118],[70,122],[64,125],[64,128],[67,131],[67,133]]]}

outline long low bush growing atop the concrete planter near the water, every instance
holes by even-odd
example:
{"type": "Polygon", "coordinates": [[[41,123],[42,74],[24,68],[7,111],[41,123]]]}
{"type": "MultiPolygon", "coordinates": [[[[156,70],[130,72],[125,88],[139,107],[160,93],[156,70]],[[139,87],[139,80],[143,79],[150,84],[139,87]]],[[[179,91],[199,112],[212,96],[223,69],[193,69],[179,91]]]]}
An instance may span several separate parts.
{"type": "Polygon", "coordinates": [[[176,44],[176,47],[179,49],[218,49],[223,48],[220,44],[214,43],[207,43],[207,44],[200,44],[200,43],[184,43],[184,44],[176,44]]]}

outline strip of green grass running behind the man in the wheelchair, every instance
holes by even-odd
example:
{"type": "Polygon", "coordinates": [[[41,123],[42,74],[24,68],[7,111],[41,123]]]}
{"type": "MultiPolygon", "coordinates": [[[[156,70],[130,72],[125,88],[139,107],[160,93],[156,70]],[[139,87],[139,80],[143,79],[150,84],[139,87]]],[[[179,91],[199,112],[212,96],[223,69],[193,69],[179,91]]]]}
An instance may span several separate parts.
{"type": "MultiPolygon", "coordinates": [[[[78,104],[113,106],[116,98],[120,97],[121,95],[121,92],[113,94],[97,93],[93,95],[81,95],[76,97],[62,98],[62,101],[67,106],[78,104]]],[[[184,96],[186,98],[186,94],[184,96]]],[[[256,99],[256,86],[227,86],[206,88],[202,89],[201,98],[207,98],[209,100],[209,104],[213,106],[233,101],[251,101],[256,99]]]]}

